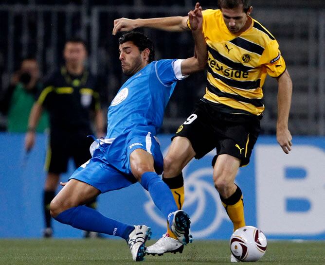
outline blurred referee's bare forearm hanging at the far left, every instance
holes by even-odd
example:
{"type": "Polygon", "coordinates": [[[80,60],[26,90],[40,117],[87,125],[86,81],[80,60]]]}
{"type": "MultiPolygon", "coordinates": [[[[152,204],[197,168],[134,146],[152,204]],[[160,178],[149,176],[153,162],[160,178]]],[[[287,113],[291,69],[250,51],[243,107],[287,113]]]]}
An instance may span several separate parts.
{"type": "Polygon", "coordinates": [[[25,149],[27,152],[29,152],[34,146],[36,126],[38,124],[42,111],[42,105],[38,102],[35,102],[29,115],[28,129],[25,137],[25,149]]]}

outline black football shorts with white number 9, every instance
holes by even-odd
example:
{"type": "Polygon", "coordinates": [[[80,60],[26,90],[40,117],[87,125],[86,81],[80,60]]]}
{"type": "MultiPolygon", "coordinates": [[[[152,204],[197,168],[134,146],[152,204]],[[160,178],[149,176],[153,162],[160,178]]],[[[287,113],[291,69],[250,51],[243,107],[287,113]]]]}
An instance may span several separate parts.
{"type": "MultiPolygon", "coordinates": [[[[193,113],[181,124],[173,138],[186,137],[192,144],[196,159],[217,148],[217,156],[231,155],[241,160],[240,166],[245,166],[250,161],[259,132],[259,117],[225,113],[199,100],[193,113]]],[[[213,159],[213,165],[217,156],[213,159]]]]}

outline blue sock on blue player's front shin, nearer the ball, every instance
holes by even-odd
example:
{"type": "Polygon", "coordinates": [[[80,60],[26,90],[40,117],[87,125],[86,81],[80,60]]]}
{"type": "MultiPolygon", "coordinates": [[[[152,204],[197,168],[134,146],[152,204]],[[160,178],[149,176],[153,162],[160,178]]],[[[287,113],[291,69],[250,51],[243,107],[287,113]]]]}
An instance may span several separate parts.
{"type": "Polygon", "coordinates": [[[162,214],[168,214],[178,210],[173,194],[167,184],[155,172],[145,172],[141,177],[141,185],[146,189],[162,214]]]}

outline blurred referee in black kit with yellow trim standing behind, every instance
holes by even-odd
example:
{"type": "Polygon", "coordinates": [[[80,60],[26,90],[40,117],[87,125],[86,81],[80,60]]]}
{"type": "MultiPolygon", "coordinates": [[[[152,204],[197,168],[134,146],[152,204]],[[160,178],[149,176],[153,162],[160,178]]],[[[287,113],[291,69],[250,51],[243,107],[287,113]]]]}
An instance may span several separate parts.
{"type": "MultiPolygon", "coordinates": [[[[91,118],[94,119],[96,136],[105,136],[97,79],[84,66],[87,58],[85,42],[79,38],[69,39],[65,43],[63,56],[65,66],[45,81],[44,89],[31,110],[25,138],[25,149],[29,152],[35,143],[35,129],[42,110],[48,110],[51,133],[45,162],[44,237],[53,235],[49,206],[55,196],[60,174],[67,172],[70,158],[73,158],[76,167],[90,159],[92,140],[87,136],[93,133],[91,118]]],[[[94,208],[95,201],[87,206],[94,208]]],[[[85,233],[85,237],[91,235],[90,232],[85,233]]]]}

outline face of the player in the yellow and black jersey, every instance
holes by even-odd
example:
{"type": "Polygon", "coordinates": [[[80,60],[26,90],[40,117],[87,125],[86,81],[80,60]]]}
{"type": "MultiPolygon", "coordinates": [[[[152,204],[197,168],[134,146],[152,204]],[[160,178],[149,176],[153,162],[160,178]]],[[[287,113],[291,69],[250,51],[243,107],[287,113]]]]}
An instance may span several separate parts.
{"type": "MultiPolygon", "coordinates": [[[[244,12],[242,5],[239,5],[234,9],[221,8],[221,12],[223,20],[231,33],[236,34],[246,30],[245,25],[248,19],[248,14],[244,12]]],[[[248,13],[250,13],[250,11],[248,13]]]]}

